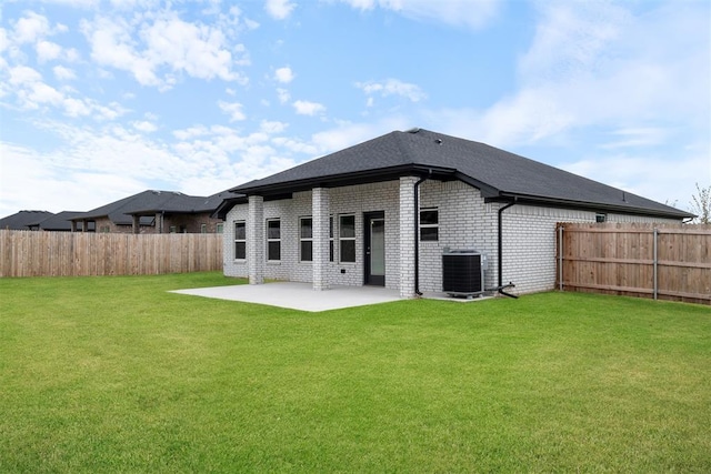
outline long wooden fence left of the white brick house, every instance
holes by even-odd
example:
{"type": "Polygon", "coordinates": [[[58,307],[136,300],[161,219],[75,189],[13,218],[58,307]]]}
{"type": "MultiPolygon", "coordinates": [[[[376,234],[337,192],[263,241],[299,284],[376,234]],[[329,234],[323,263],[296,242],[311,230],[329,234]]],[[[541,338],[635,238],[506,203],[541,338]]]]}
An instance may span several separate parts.
{"type": "Polygon", "coordinates": [[[222,234],[0,230],[0,276],[94,276],[222,269],[222,234]]]}

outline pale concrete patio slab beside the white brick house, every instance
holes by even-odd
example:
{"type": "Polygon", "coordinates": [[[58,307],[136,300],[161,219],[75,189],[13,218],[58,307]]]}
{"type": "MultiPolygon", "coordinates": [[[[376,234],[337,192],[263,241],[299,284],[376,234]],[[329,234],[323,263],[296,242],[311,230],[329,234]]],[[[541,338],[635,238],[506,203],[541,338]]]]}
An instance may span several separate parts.
{"type": "MultiPolygon", "coordinates": [[[[171,293],[193,296],[216,297],[246,303],[267,304],[299,311],[329,311],[343,307],[364,306],[401,300],[398,290],[380,286],[334,286],[316,291],[311,283],[274,282],[259,285],[241,284],[230,286],[174,290],[171,293]]],[[[468,303],[488,297],[458,299],[443,293],[427,293],[424,297],[468,303]]]]}

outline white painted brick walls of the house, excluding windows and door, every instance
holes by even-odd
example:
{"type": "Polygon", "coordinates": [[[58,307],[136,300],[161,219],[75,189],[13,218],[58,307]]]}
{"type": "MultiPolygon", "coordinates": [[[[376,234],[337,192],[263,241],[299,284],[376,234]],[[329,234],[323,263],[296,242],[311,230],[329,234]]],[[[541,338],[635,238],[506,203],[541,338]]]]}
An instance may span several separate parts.
{"type": "MultiPolygon", "coordinates": [[[[403,180],[417,180],[403,178],[403,180]]],[[[409,181],[408,181],[409,182],[409,181]]],[[[384,211],[385,215],[385,286],[400,289],[401,276],[410,278],[412,255],[404,249],[401,255],[400,242],[408,242],[408,234],[414,240],[411,216],[404,216],[405,229],[400,229],[400,200],[404,209],[412,203],[407,191],[401,195],[399,181],[344,186],[328,191],[328,211],[334,222],[334,262],[327,265],[328,284],[363,284],[363,213],[384,211]],[[407,202],[405,202],[407,201],[407,202]],[[356,216],[356,263],[339,263],[338,218],[341,214],[356,216]],[[410,230],[408,230],[410,229],[410,230]],[[401,259],[405,260],[402,268],[401,259]]],[[[412,183],[403,186],[410,189],[412,183]]],[[[312,192],[294,193],[291,200],[267,201],[263,203],[262,224],[268,219],[281,220],[281,262],[264,263],[266,279],[300,282],[313,281],[311,262],[299,261],[299,218],[312,213],[312,192]]],[[[420,291],[442,290],[442,251],[451,249],[474,249],[487,255],[488,271],[484,286],[498,284],[498,211],[505,204],[484,203],[475,188],[460,181],[425,181],[420,185],[420,208],[438,208],[439,241],[420,242],[420,291]]],[[[409,212],[409,211],[408,211],[409,212]]],[[[650,222],[651,219],[633,215],[608,214],[609,222],[650,222]]],[[[248,276],[246,261],[236,261],[234,224],[237,220],[248,221],[248,205],[236,205],[227,215],[224,225],[224,274],[248,276]]],[[[518,293],[552,290],[555,283],[555,223],[594,222],[595,213],[564,209],[551,209],[515,204],[503,212],[503,278],[502,282],[513,282],[518,293]]],[[[248,223],[248,235],[249,235],[248,223]]],[[[263,231],[262,231],[263,232],[263,231]]],[[[261,259],[266,255],[262,233],[261,259]]],[[[247,254],[251,242],[248,241],[247,254]]],[[[412,285],[404,282],[409,293],[412,285]]]]}

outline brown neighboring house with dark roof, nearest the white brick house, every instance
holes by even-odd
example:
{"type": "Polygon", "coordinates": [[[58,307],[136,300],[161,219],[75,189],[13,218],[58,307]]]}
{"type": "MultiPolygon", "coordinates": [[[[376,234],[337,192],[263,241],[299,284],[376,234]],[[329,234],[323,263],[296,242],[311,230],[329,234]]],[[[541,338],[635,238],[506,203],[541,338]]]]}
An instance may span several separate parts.
{"type": "Polygon", "coordinates": [[[71,219],[73,231],[112,233],[216,233],[222,221],[212,218],[229,192],[192,196],[173,191],[143,191],[71,219]]]}

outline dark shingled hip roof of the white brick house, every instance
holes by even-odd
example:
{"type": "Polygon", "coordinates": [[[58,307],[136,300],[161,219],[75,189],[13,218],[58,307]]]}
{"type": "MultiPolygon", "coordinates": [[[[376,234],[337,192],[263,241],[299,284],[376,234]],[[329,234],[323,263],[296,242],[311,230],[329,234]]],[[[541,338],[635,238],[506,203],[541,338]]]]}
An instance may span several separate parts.
{"type": "Polygon", "coordinates": [[[274,196],[402,175],[461,180],[488,201],[683,219],[692,214],[484,143],[423,129],[394,131],[230,191],[274,196]]]}

